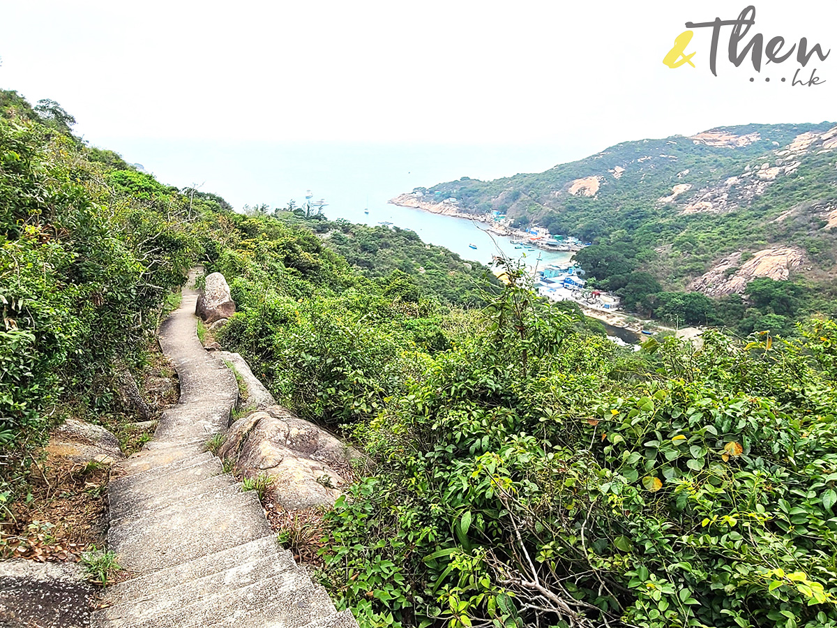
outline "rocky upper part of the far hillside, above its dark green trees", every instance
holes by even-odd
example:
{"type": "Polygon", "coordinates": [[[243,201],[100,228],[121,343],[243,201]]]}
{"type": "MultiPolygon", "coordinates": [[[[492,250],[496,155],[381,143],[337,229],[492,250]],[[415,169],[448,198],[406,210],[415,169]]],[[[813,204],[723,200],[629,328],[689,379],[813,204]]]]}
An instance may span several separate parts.
{"type": "Polygon", "coordinates": [[[721,127],[624,142],[547,172],[416,188],[393,202],[465,216],[499,210],[517,224],[623,243],[639,255],[635,269],[666,288],[723,295],[752,276],[831,279],[835,149],[833,122],[721,127]],[[760,263],[736,275],[742,255],[760,263]]]}

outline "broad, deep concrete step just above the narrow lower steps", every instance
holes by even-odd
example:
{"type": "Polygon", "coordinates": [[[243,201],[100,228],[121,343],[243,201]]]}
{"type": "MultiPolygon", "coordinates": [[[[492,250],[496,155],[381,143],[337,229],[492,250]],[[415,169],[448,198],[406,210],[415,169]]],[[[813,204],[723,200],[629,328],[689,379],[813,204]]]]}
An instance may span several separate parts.
{"type": "Polygon", "coordinates": [[[136,538],[111,543],[110,549],[119,555],[122,567],[140,576],[270,535],[270,525],[264,518],[258,496],[252,491],[241,495],[249,496],[249,506],[229,508],[226,518],[217,513],[195,511],[190,521],[179,521],[179,529],[165,532],[153,528],[139,529],[136,538]],[[195,524],[199,524],[198,529],[193,529],[195,524]]]}

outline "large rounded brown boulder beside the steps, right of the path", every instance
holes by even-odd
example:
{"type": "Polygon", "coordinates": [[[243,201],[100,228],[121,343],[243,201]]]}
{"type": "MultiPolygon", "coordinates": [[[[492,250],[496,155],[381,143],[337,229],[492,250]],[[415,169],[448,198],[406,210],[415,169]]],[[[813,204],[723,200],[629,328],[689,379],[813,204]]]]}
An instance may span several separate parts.
{"type": "Polygon", "coordinates": [[[302,510],[333,505],[359,455],[326,430],[272,405],[231,425],[218,456],[232,458],[244,476],[268,476],[269,498],[287,510],[302,510]]]}

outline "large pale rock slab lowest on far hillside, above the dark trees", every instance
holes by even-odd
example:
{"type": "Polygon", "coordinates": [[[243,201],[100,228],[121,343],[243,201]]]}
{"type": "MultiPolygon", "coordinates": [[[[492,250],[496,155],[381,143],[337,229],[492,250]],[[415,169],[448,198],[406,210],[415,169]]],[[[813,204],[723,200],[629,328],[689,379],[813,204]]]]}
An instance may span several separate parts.
{"type": "Polygon", "coordinates": [[[774,281],[788,279],[790,271],[804,263],[804,254],[795,247],[764,249],[741,263],[742,254],[733,253],[721,260],[704,275],[691,282],[690,291],[703,292],[707,296],[742,293],[747,284],[757,277],[774,281]]]}

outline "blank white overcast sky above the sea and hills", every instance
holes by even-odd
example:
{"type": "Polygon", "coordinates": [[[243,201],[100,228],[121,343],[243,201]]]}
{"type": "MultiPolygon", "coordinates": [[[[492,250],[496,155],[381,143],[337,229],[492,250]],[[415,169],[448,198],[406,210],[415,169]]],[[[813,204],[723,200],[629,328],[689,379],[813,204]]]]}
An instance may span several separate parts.
{"type": "Polygon", "coordinates": [[[119,139],[589,145],[747,122],[837,119],[837,0],[756,2],[751,33],[824,49],[709,74],[662,58],[686,21],[745,3],[187,3],[0,0],[0,86],[58,100],[93,143],[119,139]],[[806,78],[809,72],[806,72],[806,78]],[[769,84],[763,81],[772,76],[769,84]],[[788,83],[778,80],[786,76],[788,83]]]}

